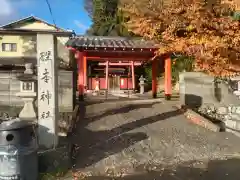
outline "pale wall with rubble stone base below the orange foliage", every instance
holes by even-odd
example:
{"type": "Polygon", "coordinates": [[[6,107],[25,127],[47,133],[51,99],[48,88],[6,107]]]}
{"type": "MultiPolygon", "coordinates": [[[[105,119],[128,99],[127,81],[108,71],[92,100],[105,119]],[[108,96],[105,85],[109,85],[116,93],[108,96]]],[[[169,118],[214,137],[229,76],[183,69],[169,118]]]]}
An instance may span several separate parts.
{"type": "Polygon", "coordinates": [[[180,102],[206,115],[213,121],[220,120],[227,129],[240,131],[240,99],[233,94],[230,84],[200,72],[180,74],[180,102]]]}

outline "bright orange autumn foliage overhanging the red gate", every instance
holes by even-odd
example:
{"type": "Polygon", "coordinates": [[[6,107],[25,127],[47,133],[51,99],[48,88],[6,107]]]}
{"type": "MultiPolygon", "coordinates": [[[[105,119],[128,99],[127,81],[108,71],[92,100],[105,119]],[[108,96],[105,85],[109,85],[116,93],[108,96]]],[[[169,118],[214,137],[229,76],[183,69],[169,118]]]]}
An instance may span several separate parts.
{"type": "MultiPolygon", "coordinates": [[[[238,2],[238,0],[236,0],[238,2]]],[[[159,54],[194,56],[195,70],[217,76],[240,72],[240,23],[234,1],[122,0],[128,28],[159,43],[159,54]]]]}

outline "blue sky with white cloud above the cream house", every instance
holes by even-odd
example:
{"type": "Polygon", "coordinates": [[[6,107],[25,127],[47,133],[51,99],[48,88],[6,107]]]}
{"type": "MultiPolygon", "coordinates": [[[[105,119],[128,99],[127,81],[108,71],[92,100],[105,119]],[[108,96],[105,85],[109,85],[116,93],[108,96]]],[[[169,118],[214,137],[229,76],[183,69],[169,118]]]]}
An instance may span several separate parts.
{"type": "MultiPolygon", "coordinates": [[[[83,7],[83,0],[49,0],[56,25],[84,34],[91,19],[83,7]]],[[[0,24],[30,15],[53,23],[46,0],[0,0],[0,24]]]]}

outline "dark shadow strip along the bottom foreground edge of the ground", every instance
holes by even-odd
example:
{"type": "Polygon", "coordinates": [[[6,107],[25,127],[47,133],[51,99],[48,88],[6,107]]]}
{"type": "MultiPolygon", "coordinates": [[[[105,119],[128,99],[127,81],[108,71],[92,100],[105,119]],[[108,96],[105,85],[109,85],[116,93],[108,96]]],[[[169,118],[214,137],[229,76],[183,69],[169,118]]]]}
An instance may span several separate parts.
{"type": "MultiPolygon", "coordinates": [[[[144,167],[144,166],[143,166],[144,167]]],[[[122,177],[91,176],[81,177],[85,180],[239,180],[240,160],[212,160],[208,163],[187,162],[176,167],[156,167],[146,171],[144,168],[136,174],[122,177]]],[[[80,174],[75,174],[80,175],[80,174]]],[[[80,175],[81,176],[81,175],[80,175]]],[[[80,178],[79,178],[80,179],[80,178]]]]}

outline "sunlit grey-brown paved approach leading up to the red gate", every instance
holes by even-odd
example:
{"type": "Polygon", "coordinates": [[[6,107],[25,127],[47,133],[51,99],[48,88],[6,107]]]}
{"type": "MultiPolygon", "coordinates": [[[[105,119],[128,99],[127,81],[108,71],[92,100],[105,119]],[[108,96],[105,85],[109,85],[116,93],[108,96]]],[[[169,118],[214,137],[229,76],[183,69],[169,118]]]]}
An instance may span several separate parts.
{"type": "Polygon", "coordinates": [[[97,180],[240,179],[240,139],[191,124],[173,103],[87,105],[75,169],[97,180]]]}

